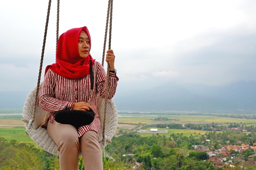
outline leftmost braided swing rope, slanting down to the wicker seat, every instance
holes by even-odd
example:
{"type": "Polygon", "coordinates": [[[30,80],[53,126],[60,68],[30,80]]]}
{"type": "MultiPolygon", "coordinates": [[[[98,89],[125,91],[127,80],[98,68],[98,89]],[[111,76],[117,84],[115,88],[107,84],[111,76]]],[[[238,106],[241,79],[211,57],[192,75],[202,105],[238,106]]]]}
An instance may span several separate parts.
{"type": "Polygon", "coordinates": [[[41,73],[42,73],[42,67],[43,67],[43,57],[44,57],[44,53],[45,53],[45,42],[46,42],[47,28],[48,28],[48,23],[49,23],[51,3],[52,3],[52,0],[49,0],[46,23],[45,23],[45,34],[44,34],[44,40],[43,40],[43,48],[42,48],[40,68],[39,68],[38,81],[37,81],[37,87],[36,87],[36,100],[34,103],[33,118],[32,118],[31,123],[35,120],[35,117],[36,117],[36,106],[38,105],[38,92],[39,92],[40,79],[41,79],[41,73]]]}

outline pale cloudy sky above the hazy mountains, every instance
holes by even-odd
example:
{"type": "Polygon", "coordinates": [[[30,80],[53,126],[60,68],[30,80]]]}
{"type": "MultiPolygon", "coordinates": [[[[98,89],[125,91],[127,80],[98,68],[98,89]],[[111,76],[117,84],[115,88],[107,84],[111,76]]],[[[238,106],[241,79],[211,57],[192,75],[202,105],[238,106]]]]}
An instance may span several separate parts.
{"type": "MultiPolygon", "coordinates": [[[[55,62],[56,3],[52,0],[42,75],[55,62]]],[[[47,7],[47,0],[0,2],[0,91],[36,86],[47,7]]],[[[108,0],[60,0],[59,35],[87,26],[90,53],[99,62],[107,7],[108,0]]],[[[111,49],[118,88],[256,81],[255,9],[255,0],[114,0],[111,49]]]]}

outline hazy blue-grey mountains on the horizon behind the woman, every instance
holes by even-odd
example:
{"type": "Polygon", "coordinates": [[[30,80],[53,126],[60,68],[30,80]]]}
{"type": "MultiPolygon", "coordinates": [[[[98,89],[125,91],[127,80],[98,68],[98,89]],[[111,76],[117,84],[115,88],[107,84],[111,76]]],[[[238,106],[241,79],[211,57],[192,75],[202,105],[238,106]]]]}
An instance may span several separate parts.
{"type": "MultiPolygon", "coordinates": [[[[28,93],[0,92],[0,108],[22,108],[28,93]]],[[[255,113],[256,82],[237,82],[222,87],[169,82],[148,90],[118,91],[114,101],[117,110],[255,113]]]]}

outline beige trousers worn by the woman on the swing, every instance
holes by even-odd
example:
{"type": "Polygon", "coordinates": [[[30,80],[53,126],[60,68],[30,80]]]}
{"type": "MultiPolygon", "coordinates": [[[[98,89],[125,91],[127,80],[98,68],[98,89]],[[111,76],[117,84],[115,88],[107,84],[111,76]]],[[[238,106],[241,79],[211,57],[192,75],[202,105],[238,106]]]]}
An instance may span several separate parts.
{"type": "Polygon", "coordinates": [[[48,122],[49,137],[58,145],[61,170],[78,170],[78,153],[81,148],[85,170],[103,170],[97,132],[90,130],[80,138],[74,126],[48,122]]]}

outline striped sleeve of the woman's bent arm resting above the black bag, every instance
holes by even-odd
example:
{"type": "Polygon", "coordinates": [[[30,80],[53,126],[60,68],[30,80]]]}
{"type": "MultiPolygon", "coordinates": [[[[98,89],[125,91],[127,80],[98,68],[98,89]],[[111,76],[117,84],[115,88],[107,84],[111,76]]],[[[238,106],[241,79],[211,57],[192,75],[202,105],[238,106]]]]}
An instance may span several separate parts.
{"type": "Polygon", "coordinates": [[[71,110],[74,103],[56,99],[55,86],[56,77],[54,72],[49,69],[45,74],[45,78],[40,89],[39,105],[42,109],[49,112],[56,112],[64,109],[71,110]]]}

